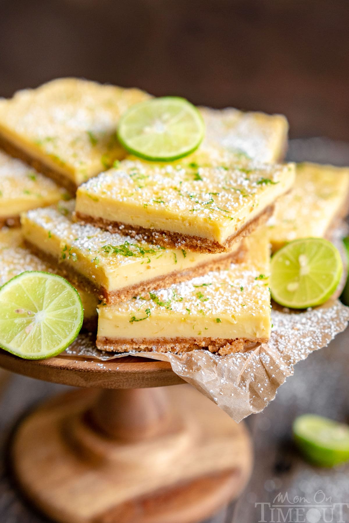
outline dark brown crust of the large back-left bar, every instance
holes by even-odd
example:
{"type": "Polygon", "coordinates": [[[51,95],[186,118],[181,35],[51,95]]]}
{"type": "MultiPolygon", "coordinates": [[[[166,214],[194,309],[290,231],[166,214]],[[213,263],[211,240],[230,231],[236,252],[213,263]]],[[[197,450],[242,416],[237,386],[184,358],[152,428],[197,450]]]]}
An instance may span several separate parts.
{"type": "Polygon", "coordinates": [[[54,170],[52,167],[46,165],[41,159],[37,158],[36,156],[28,153],[27,151],[23,151],[22,149],[20,149],[20,147],[18,147],[16,144],[10,141],[7,137],[4,137],[4,135],[1,133],[0,149],[3,149],[5,153],[9,154],[10,156],[13,156],[14,158],[19,158],[19,160],[27,163],[28,165],[36,169],[39,173],[48,176],[53,181],[55,181],[55,183],[69,191],[72,196],[75,196],[77,185],[74,183],[73,180],[64,176],[60,171],[54,170]]]}

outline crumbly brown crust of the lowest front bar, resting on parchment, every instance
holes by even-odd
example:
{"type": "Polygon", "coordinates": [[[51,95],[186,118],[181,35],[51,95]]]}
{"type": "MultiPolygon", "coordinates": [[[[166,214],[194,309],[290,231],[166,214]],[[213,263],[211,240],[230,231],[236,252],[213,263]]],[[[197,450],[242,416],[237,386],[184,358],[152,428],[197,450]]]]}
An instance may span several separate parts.
{"type": "Polygon", "coordinates": [[[188,353],[192,350],[206,349],[210,353],[227,356],[256,348],[267,339],[222,339],[222,338],[105,338],[98,337],[98,349],[113,353],[128,353],[130,350],[156,353],[188,353]]]}

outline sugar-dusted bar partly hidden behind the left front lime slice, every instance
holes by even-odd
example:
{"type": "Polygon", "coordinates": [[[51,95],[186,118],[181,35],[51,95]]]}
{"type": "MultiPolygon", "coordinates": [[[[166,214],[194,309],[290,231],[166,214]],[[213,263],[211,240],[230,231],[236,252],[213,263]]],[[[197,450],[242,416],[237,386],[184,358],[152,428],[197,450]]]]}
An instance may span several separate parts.
{"type": "MultiPolygon", "coordinates": [[[[41,260],[25,247],[19,228],[8,229],[4,227],[0,229],[0,287],[6,281],[26,270],[43,270],[66,278],[65,272],[60,271],[57,266],[54,267],[46,260],[41,260]]],[[[69,281],[80,294],[84,308],[84,326],[95,329],[98,299],[79,286],[76,280],[69,279],[69,281]]]]}

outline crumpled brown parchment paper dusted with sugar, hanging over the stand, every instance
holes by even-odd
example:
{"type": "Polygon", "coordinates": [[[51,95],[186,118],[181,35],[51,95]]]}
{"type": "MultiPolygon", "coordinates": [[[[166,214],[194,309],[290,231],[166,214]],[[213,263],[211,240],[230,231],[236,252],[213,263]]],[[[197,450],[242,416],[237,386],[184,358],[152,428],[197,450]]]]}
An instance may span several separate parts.
{"type": "Polygon", "coordinates": [[[91,336],[80,335],[66,350],[72,356],[100,360],[139,356],[169,361],[173,371],[214,401],[236,422],[263,411],[276,391],[294,372],[294,365],[325,347],[349,322],[349,308],[328,301],[307,311],[290,312],[273,305],[273,329],[268,343],[254,350],[217,356],[207,350],[184,354],[130,351],[113,354],[100,351],[91,336]]]}

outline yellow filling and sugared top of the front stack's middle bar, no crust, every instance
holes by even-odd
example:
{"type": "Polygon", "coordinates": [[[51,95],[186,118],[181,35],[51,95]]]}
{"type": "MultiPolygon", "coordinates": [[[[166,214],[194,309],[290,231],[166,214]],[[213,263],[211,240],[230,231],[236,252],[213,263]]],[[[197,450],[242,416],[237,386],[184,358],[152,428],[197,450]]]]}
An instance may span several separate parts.
{"type": "MultiPolygon", "coordinates": [[[[210,263],[223,254],[164,249],[72,220],[74,202],[22,215],[25,238],[108,292],[210,263]]],[[[238,249],[237,244],[234,249],[238,249]]]]}

